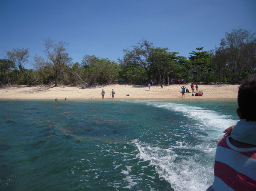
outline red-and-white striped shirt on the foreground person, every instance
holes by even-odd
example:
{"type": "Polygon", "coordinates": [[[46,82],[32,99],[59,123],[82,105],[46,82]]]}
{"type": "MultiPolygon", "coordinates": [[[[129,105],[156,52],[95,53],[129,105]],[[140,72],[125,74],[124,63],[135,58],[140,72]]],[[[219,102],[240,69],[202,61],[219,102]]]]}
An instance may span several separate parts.
{"type": "Polygon", "coordinates": [[[223,137],[216,149],[213,191],[256,191],[256,147],[237,148],[223,137]]]}

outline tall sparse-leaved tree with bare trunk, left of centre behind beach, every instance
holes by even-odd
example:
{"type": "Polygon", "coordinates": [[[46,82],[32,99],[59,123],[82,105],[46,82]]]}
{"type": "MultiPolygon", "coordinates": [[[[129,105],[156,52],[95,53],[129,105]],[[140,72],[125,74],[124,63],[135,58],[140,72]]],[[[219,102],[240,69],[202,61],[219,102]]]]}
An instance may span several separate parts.
{"type": "Polygon", "coordinates": [[[67,65],[72,61],[72,58],[69,57],[69,54],[66,52],[68,43],[59,41],[57,44],[54,44],[53,40],[47,38],[44,40],[44,47],[47,58],[52,62],[54,83],[55,86],[57,86],[59,75],[63,75],[65,68],[67,68],[67,65]]]}

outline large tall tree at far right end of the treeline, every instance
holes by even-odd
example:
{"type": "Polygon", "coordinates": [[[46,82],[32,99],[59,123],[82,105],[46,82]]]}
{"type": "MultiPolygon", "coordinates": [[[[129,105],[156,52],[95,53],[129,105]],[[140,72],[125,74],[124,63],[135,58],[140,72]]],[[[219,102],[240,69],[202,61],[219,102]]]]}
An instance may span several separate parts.
{"type": "Polygon", "coordinates": [[[237,83],[250,74],[256,74],[256,33],[244,29],[226,32],[220,47],[215,50],[219,73],[237,83]]]}

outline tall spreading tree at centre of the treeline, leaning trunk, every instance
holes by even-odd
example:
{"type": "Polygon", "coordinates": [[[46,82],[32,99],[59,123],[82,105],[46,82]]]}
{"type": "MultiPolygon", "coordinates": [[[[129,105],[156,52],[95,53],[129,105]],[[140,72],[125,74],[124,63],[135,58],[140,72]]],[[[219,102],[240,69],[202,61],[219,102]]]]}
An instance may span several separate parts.
{"type": "Polygon", "coordinates": [[[136,63],[141,68],[147,72],[148,78],[150,78],[150,57],[151,53],[154,50],[153,43],[148,42],[147,40],[142,39],[138,42],[137,45],[132,46],[132,50],[124,49],[124,63],[136,63]]]}

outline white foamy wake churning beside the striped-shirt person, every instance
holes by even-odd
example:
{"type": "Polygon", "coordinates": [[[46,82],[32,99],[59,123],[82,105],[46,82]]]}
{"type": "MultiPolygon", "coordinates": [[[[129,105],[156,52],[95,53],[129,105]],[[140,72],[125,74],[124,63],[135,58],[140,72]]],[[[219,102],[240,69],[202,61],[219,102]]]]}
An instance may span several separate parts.
{"type": "MultiPolygon", "coordinates": [[[[138,157],[150,160],[159,177],[169,182],[175,191],[204,191],[213,181],[213,165],[200,164],[200,156],[178,156],[175,151],[162,149],[135,140],[138,157]]],[[[212,151],[210,151],[212,152],[212,151]]]]}

